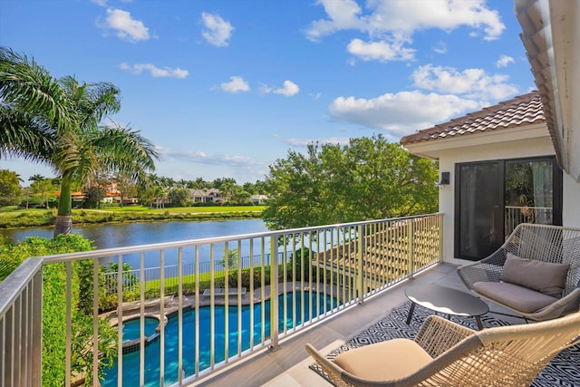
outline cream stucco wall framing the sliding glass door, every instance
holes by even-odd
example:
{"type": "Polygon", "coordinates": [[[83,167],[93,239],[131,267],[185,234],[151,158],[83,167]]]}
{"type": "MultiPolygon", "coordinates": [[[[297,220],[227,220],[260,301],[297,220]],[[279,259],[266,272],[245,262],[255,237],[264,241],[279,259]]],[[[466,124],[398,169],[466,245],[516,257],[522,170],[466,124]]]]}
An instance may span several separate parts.
{"type": "MultiPolygon", "coordinates": [[[[459,145],[459,144],[458,144],[459,145]]],[[[440,212],[443,216],[443,260],[453,264],[465,264],[469,261],[454,258],[454,227],[455,219],[455,164],[461,162],[518,159],[536,156],[554,155],[552,141],[548,137],[534,139],[496,142],[488,145],[460,147],[440,150],[440,171],[449,171],[449,186],[440,187],[440,212]]],[[[568,184],[572,186],[572,184],[568,184]]],[[[574,186],[575,198],[580,198],[580,188],[574,186]]],[[[566,194],[565,194],[566,198],[566,194]]],[[[580,209],[576,210],[576,219],[580,209]]]]}

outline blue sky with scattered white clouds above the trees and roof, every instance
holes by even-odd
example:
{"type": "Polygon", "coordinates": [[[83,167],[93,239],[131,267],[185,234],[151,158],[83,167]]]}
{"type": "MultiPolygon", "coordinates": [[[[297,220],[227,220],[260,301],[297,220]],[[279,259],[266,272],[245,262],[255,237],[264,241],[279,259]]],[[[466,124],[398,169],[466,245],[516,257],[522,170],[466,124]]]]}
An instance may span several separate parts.
{"type": "MultiPolygon", "coordinates": [[[[506,0],[2,0],[0,44],[112,82],[174,179],[265,179],[305,145],[388,140],[535,88],[506,0]]],[[[0,169],[53,176],[23,160],[0,169]]]]}

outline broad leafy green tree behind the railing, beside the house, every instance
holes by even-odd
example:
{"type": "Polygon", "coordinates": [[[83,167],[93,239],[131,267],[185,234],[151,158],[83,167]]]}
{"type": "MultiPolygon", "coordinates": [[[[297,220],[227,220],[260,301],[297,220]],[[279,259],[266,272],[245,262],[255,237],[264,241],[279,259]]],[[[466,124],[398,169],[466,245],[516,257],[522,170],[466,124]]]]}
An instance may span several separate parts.
{"type": "Polygon", "coordinates": [[[431,213],[439,206],[437,178],[436,162],[381,135],[310,144],[270,166],[264,220],[282,229],[431,213]]]}

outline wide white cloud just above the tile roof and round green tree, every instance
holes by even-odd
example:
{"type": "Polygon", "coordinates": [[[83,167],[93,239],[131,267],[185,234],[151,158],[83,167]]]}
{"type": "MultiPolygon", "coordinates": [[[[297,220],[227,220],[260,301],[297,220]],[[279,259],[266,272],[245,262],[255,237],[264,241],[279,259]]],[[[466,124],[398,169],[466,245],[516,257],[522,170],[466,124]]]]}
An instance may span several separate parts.
{"type": "Polygon", "coordinates": [[[456,95],[415,91],[387,93],[372,99],[339,97],[329,106],[329,113],[335,121],[381,129],[401,137],[480,107],[479,102],[456,95]]]}

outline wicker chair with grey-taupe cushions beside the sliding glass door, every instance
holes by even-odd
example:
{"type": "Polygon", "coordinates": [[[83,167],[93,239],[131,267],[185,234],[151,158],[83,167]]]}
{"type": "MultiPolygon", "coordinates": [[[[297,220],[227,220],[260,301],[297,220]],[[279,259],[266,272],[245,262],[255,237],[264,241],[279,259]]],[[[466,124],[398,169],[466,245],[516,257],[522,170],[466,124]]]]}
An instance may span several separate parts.
{"type": "Polygon", "coordinates": [[[522,223],[491,256],[459,266],[458,274],[479,298],[526,320],[578,311],[580,229],[522,223]]]}

